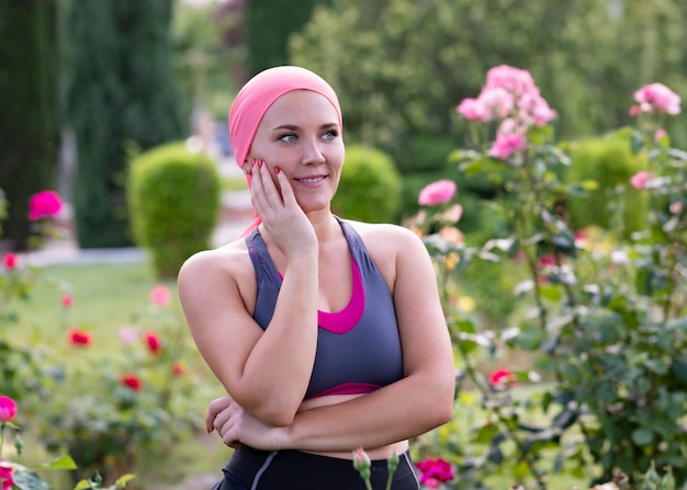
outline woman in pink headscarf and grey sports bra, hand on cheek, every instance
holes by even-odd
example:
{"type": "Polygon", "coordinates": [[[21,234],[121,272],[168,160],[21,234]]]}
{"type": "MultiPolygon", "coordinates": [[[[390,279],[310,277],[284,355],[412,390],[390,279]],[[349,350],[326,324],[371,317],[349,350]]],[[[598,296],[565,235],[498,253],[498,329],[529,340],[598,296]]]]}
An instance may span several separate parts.
{"type": "Polygon", "coordinates": [[[193,339],[228,394],[206,414],[235,447],[215,488],[359,488],[360,447],[378,488],[393,454],[392,488],[419,488],[407,440],[450,420],[454,389],[424,244],[399,226],[333,215],[342,122],[317,75],[257,75],[229,130],[259,218],[179,273],[193,339]]]}

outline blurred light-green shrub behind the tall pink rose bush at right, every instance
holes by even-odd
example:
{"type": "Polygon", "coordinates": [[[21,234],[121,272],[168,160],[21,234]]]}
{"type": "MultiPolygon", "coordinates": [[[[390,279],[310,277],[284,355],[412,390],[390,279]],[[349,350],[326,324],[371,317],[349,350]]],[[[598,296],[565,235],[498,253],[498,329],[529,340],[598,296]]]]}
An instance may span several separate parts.
{"type": "Polygon", "coordinates": [[[618,228],[624,237],[643,229],[646,194],[632,189],[630,178],[646,168],[645,159],[632,155],[627,139],[588,138],[579,141],[566,172],[568,182],[593,180],[598,187],[585,197],[568,197],[567,209],[574,228],[596,225],[618,228]]]}

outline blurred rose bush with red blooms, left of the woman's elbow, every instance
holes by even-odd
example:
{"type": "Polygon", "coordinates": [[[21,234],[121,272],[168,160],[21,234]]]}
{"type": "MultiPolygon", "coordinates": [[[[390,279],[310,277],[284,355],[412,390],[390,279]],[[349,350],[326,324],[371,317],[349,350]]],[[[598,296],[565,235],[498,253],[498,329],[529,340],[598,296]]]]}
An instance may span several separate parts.
{"type": "MultiPolygon", "coordinates": [[[[75,459],[79,479],[99,472],[112,481],[140,456],[162,454],[199,426],[200,414],[189,404],[195,381],[183,368],[192,350],[170,298],[166,285],[156,286],[108,356],[91,355],[103,340],[71,327],[69,362],[44,361],[42,389],[32,400],[41,414],[38,434],[48,451],[75,459]]],[[[72,301],[78,305],[78,296],[72,301]]],[[[77,312],[77,306],[69,308],[77,312]]]]}

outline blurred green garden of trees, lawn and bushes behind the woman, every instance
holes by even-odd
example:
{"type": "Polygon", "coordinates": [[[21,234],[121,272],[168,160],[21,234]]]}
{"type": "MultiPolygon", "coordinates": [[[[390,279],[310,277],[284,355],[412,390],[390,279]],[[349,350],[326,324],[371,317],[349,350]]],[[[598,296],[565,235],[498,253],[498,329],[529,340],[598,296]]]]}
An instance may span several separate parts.
{"type": "Polygon", "coordinates": [[[25,464],[70,453],[77,478],[147,489],[217,474],[228,449],[198,430],[221,391],[173,271],[249,218],[226,114],[250,75],[292,62],[345,107],[337,212],[412,226],[437,261],[457,418],[416,456],[450,461],[450,488],[572,488],[650,461],[683,482],[687,125],[635,92],[687,93],[684,2],[45,0],[0,19],[0,395],[20,406],[25,464]],[[531,73],[555,117],[489,157],[494,121],[457,107],[499,66],[531,73]],[[439,180],[458,185],[444,214],[418,202],[439,180]],[[29,219],[45,190],[59,213],[29,219]]]}

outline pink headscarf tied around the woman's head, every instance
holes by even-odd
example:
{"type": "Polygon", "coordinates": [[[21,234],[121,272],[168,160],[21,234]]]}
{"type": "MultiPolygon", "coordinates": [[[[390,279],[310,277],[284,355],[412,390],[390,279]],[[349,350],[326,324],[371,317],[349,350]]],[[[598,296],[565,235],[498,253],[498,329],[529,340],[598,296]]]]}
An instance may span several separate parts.
{"type": "MultiPolygon", "coordinates": [[[[334,106],[339,116],[339,127],[344,130],[341,109],[334,89],[322,77],[305,68],[282,66],[269,68],[254,78],[241,88],[229,111],[229,137],[236,156],[236,163],[243,168],[246,162],[250,145],[256,136],[262,116],[277,99],[294,90],[311,90],[324,95],[334,106]]],[[[251,175],[246,180],[250,187],[251,175]]],[[[241,233],[241,237],[260,224],[260,218],[241,233]]]]}

